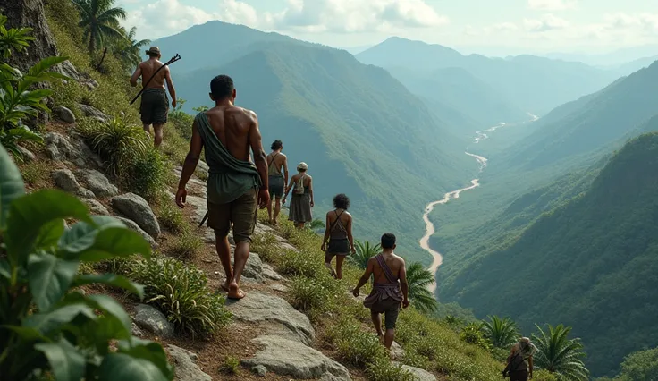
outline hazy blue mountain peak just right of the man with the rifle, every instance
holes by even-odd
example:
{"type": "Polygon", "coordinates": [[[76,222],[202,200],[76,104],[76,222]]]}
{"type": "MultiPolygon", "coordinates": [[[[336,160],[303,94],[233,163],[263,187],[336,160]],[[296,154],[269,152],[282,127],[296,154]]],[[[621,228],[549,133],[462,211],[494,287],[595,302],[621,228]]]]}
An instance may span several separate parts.
{"type": "MultiPolygon", "coordinates": [[[[302,43],[274,32],[266,33],[223,21],[208,21],[173,36],[158,38],[153,45],[160,47],[165,59],[176,53],[181,55],[181,61],[172,65],[172,72],[184,73],[229,63],[251,52],[253,44],[281,41],[302,43]]],[[[174,83],[178,84],[175,77],[174,83]]]]}

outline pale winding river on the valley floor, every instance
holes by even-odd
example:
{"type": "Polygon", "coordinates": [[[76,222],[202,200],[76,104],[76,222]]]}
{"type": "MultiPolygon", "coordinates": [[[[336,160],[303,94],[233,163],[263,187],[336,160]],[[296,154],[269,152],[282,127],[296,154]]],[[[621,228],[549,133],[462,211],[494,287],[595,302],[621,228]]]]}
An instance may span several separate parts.
{"type": "MultiPolygon", "coordinates": [[[[537,119],[539,119],[536,115],[533,115],[533,114],[530,114],[530,113],[527,113],[527,114],[528,114],[528,116],[530,116],[532,118],[528,122],[535,122],[537,119]]],[[[491,134],[491,132],[496,131],[499,128],[505,127],[506,125],[507,125],[506,123],[499,123],[498,125],[493,126],[492,128],[482,130],[482,131],[476,131],[476,138],[473,141],[473,143],[477,144],[482,140],[489,139],[489,134],[491,134]]],[[[468,152],[469,147],[470,146],[468,146],[466,148],[467,152],[464,152],[464,153],[466,155],[468,155],[469,157],[473,157],[473,158],[476,159],[477,164],[480,165],[480,171],[479,172],[482,173],[482,171],[486,167],[486,157],[481,157],[479,155],[468,152]]],[[[445,193],[443,195],[443,199],[438,199],[436,201],[430,202],[429,204],[427,204],[427,207],[425,208],[425,214],[423,215],[423,221],[425,222],[425,235],[423,236],[423,238],[420,239],[420,241],[418,241],[418,243],[420,244],[420,247],[423,250],[426,250],[432,256],[432,265],[430,265],[429,271],[434,276],[434,279],[436,279],[436,271],[439,269],[439,267],[443,263],[443,256],[441,255],[440,252],[438,252],[436,250],[433,250],[429,245],[430,237],[432,237],[434,235],[434,233],[436,233],[436,229],[434,227],[434,224],[429,219],[429,214],[432,213],[432,211],[434,210],[434,207],[436,207],[437,205],[446,204],[451,199],[459,199],[460,198],[460,193],[462,191],[476,189],[479,186],[480,186],[479,179],[473,179],[473,180],[470,181],[470,186],[465,187],[465,188],[461,188],[459,190],[452,190],[448,193],[445,193]]],[[[436,291],[436,284],[435,283],[431,284],[431,285],[429,285],[428,288],[429,288],[430,292],[434,293],[436,291]]]]}

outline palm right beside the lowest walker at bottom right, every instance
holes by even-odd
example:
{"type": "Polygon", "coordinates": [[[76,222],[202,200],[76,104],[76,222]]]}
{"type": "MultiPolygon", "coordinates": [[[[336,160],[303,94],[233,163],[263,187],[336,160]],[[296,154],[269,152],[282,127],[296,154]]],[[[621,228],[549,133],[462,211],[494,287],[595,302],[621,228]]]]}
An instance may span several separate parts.
{"type": "Polygon", "coordinates": [[[589,370],[585,368],[582,358],[586,356],[580,339],[569,339],[570,326],[548,325],[548,332],[536,326],[537,335],[532,340],[537,347],[535,363],[537,367],[544,368],[569,381],[585,381],[589,377],[589,370]]]}

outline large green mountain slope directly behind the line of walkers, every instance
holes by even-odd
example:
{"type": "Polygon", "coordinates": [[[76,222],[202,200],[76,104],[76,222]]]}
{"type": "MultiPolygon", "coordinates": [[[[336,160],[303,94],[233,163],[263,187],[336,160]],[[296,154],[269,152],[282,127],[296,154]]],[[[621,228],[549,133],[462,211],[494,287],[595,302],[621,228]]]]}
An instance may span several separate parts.
{"type": "Polygon", "coordinates": [[[190,105],[210,105],[208,83],[219,73],[235,80],[238,105],[257,112],[266,142],[281,139],[292,164],[308,163],[320,206],[338,192],[352,198],[362,239],[392,230],[414,250],[427,199],[477,170],[463,154],[465,141],[418,98],[347,52],[267,44],[221,68],[191,72],[178,92],[190,105]]]}

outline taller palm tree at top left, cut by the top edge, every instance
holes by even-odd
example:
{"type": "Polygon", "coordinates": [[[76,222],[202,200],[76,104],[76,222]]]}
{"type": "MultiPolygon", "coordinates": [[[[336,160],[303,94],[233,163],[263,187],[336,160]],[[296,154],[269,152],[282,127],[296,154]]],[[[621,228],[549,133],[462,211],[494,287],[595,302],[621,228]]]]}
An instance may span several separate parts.
{"type": "Polygon", "coordinates": [[[126,18],[121,7],[113,7],[114,0],[72,0],[80,12],[78,25],[89,39],[89,53],[105,45],[107,38],[123,38],[119,20],[126,18]]]}

